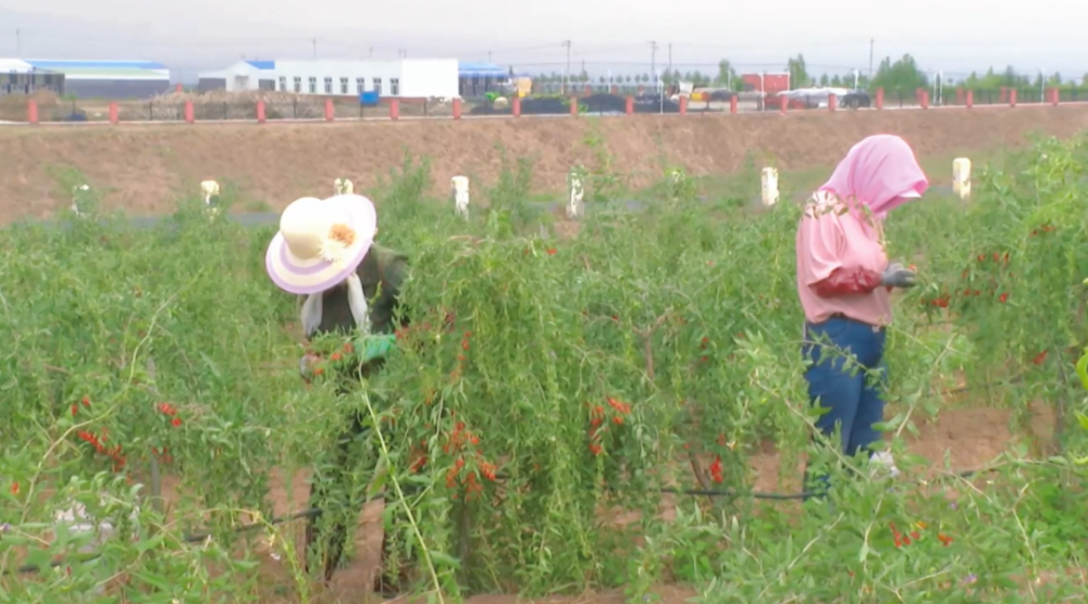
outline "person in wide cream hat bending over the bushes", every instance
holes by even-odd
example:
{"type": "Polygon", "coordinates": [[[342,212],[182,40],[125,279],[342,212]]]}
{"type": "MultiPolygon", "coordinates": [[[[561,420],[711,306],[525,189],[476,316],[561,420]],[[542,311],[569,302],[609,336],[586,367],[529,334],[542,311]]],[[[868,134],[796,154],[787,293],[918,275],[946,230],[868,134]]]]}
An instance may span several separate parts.
{"type": "MultiPolygon", "coordinates": [[[[350,370],[334,376],[337,392],[348,394],[359,379],[373,375],[395,347],[400,286],[407,275],[407,256],[374,244],[378,216],[371,201],[358,194],[338,194],[325,200],[302,198],[284,210],[280,232],[272,239],[265,255],[265,268],[275,285],[289,293],[306,295],[301,323],[309,339],[318,334],[341,332],[361,337],[354,351],[358,363],[350,370]],[[370,301],[370,303],[368,303],[370,301]]],[[[302,358],[302,373],[309,372],[313,357],[302,358]]],[[[344,502],[355,491],[349,467],[351,444],[368,438],[371,426],[366,413],[356,411],[337,441],[331,469],[319,468],[311,488],[311,507],[322,511],[322,518],[311,518],[306,529],[307,557],[324,545],[324,578],[330,580],[343,555],[347,523],[362,501],[344,502]],[[319,524],[320,523],[320,524],[319,524]],[[322,528],[321,525],[326,525],[322,528]],[[327,529],[324,534],[321,532],[327,529]],[[324,543],[319,543],[324,541],[324,543]]],[[[388,536],[382,543],[382,563],[390,554],[388,536]]],[[[307,568],[313,565],[308,562],[307,568]]],[[[407,568],[405,569],[407,570],[407,568]]],[[[387,581],[382,569],[375,574],[375,590],[395,594],[406,577],[387,581]]]]}

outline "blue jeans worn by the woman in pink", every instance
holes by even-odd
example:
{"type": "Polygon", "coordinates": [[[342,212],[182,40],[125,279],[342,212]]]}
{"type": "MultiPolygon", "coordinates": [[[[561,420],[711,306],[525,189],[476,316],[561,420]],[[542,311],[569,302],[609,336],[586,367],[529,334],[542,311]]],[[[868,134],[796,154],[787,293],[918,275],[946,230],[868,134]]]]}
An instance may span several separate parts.
{"type": "MultiPolygon", "coordinates": [[[[812,362],[805,372],[808,399],[827,410],[816,419],[816,428],[830,439],[838,427],[841,450],[851,457],[881,440],[873,425],[883,421],[886,337],[882,328],[849,318],[805,324],[803,352],[812,362]]],[[[805,475],[808,478],[807,467],[805,475]]],[[[826,476],[817,478],[827,485],[826,476]]]]}

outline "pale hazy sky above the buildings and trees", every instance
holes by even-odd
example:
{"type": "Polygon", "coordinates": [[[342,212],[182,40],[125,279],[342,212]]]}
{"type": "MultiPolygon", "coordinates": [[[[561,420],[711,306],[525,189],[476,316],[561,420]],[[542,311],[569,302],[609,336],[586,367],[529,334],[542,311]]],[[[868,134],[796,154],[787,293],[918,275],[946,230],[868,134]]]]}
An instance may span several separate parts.
{"type": "Polygon", "coordinates": [[[721,59],[741,73],[781,71],[802,53],[811,74],[864,74],[870,48],[874,68],[911,53],[952,77],[1006,65],[1077,79],[1088,72],[1078,20],[1060,18],[1084,13],[1075,0],[771,2],[739,11],[707,0],[0,0],[0,58],[159,61],[186,81],[239,59],[401,52],[536,74],[562,72],[570,40],[571,71],[584,62],[597,76],[647,73],[656,41],[658,68],[671,52],[685,72],[716,72],[721,59]]]}

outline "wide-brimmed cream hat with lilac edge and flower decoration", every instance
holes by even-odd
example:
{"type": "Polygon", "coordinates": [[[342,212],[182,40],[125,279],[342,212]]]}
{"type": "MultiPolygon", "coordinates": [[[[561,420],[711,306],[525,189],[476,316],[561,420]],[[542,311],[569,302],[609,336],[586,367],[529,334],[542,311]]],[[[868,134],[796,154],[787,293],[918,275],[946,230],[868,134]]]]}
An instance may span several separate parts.
{"type": "Polygon", "coordinates": [[[362,196],[304,197],[280,216],[264,268],[289,293],[325,291],[359,267],[376,231],[374,204],[362,196]]]}

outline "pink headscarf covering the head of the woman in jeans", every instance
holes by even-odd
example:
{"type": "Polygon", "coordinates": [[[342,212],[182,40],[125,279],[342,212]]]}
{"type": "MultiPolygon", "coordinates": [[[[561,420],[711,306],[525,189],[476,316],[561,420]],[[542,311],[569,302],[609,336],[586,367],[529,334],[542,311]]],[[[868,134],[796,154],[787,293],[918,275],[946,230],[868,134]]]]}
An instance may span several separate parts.
{"type": "Polygon", "coordinates": [[[874,135],[853,146],[831,178],[819,188],[857,211],[867,206],[882,219],[888,212],[922,197],[929,188],[911,146],[894,135],[874,135]]]}

